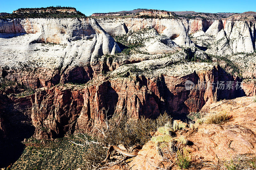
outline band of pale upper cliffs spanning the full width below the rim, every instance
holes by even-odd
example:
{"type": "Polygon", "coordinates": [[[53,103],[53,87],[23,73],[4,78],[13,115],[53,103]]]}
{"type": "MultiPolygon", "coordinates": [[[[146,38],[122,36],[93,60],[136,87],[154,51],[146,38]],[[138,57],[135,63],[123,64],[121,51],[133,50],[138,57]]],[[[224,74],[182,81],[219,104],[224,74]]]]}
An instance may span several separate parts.
{"type": "Polygon", "coordinates": [[[143,18],[99,18],[96,21],[89,18],[1,19],[0,33],[41,32],[36,39],[38,42],[66,44],[70,40],[90,39],[95,35],[95,31],[98,33],[106,31],[110,35],[123,35],[145,28],[155,28],[158,33],[173,39],[177,45],[193,47],[195,45],[188,34],[203,31],[207,35],[217,37],[223,29],[225,35],[221,35],[220,39],[226,37],[228,42],[232,43],[230,46],[233,53],[251,53],[255,50],[254,21],[143,18]]]}

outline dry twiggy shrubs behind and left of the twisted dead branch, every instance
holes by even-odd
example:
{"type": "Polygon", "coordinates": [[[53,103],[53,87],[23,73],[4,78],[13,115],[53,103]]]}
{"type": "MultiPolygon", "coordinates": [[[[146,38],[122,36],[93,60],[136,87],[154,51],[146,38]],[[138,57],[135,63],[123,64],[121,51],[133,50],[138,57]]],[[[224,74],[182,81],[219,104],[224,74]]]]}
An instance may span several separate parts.
{"type": "MultiPolygon", "coordinates": [[[[108,115],[106,111],[106,115],[108,115]]],[[[156,131],[157,127],[171,121],[172,118],[167,113],[160,115],[156,120],[140,117],[138,120],[130,119],[124,111],[122,113],[116,113],[111,118],[106,117],[104,120],[105,126],[102,129],[98,129],[102,134],[98,138],[94,138],[94,141],[88,147],[88,150],[84,154],[84,163],[82,167],[85,169],[97,169],[103,165],[101,161],[106,158],[106,146],[123,145],[126,148],[134,145],[144,145],[150,138],[150,132],[156,131]]],[[[89,138],[84,141],[88,141],[89,138]]],[[[80,140],[81,143],[81,140],[80,140]]],[[[114,159],[114,158],[112,158],[114,159]]]]}

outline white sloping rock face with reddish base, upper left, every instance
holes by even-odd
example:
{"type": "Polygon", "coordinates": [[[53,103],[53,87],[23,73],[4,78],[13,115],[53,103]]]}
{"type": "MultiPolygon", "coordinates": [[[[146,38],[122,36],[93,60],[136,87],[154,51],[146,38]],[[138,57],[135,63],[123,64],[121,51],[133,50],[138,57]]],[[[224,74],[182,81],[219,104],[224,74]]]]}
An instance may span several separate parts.
{"type": "Polygon", "coordinates": [[[87,82],[93,76],[90,64],[99,56],[121,52],[94,19],[7,19],[0,32],[2,77],[32,88],[87,82]]]}

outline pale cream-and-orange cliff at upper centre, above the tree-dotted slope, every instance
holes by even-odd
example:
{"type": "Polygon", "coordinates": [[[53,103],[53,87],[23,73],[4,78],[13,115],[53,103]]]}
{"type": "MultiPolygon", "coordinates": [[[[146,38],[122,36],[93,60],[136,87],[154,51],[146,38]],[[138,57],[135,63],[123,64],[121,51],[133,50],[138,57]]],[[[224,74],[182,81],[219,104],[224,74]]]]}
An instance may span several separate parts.
{"type": "Polygon", "coordinates": [[[111,35],[126,34],[146,28],[155,28],[161,35],[166,35],[182,47],[193,47],[193,42],[188,37],[188,32],[180,19],[104,19],[97,20],[100,26],[111,35]]]}

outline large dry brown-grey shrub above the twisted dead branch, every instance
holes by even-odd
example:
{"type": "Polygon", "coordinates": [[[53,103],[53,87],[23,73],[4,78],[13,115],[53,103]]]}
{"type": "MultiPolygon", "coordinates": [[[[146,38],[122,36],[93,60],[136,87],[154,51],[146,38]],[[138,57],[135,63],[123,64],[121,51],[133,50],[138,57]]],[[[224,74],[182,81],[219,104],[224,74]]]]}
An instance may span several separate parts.
{"type": "Polygon", "coordinates": [[[166,113],[160,115],[156,120],[143,116],[138,120],[132,120],[126,115],[121,117],[114,115],[108,120],[109,128],[103,129],[105,137],[101,137],[100,141],[106,145],[144,145],[151,138],[150,132],[156,131],[157,127],[163,126],[171,120],[172,118],[166,113]]]}

